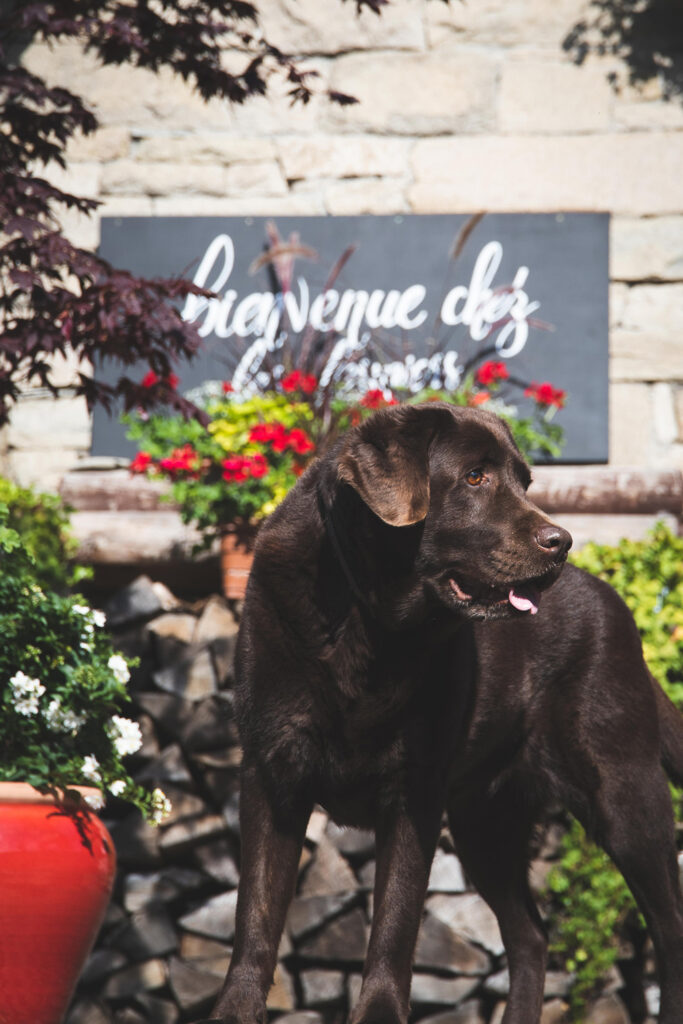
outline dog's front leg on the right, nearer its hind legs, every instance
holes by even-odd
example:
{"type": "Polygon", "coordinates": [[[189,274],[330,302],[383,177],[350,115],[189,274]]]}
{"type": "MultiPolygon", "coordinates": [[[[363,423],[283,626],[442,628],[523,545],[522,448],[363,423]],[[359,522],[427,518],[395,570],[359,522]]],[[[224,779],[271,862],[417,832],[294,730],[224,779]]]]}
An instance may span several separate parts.
{"type": "Polygon", "coordinates": [[[405,1024],[413,954],[442,803],[436,787],[387,814],[377,828],[373,927],[352,1024],[405,1024]],[[431,792],[430,792],[431,791],[431,792]]]}

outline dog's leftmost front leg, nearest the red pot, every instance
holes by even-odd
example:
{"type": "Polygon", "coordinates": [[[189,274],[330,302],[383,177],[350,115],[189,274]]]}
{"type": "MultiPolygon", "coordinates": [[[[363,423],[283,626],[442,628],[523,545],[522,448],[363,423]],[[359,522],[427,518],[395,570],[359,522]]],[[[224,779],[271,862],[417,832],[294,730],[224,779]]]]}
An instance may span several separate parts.
{"type": "MultiPolygon", "coordinates": [[[[242,872],[234,943],[225,983],[212,1012],[216,1024],[265,1024],[265,1000],[296,886],[310,805],[278,812],[256,767],[242,770],[242,872]]],[[[201,1024],[201,1022],[200,1022],[201,1024]]]]}

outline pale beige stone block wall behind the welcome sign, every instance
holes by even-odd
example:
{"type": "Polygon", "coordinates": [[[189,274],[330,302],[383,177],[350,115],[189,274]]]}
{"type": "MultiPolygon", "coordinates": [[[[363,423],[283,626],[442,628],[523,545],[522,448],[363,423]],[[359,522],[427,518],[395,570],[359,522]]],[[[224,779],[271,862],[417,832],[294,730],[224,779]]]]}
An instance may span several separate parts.
{"type": "MultiPolygon", "coordinates": [[[[682,467],[683,103],[658,79],[629,85],[613,57],[571,61],[563,42],[590,0],[259,8],[275,45],[359,103],[292,108],[274,79],[268,98],[204,103],[165,73],[34,43],[26,65],[87,96],[102,125],[51,177],[106,215],[608,211],[610,462],[682,467]]],[[[97,245],[97,217],[66,226],[97,245]]],[[[28,395],[5,467],[54,486],[88,434],[82,404],[28,395]]]]}

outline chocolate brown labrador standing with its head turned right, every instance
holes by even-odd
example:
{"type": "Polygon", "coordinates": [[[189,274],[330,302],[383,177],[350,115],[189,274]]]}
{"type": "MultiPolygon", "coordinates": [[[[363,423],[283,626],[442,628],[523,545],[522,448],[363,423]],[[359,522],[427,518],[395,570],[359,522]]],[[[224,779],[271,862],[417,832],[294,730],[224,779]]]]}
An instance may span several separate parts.
{"type": "Polygon", "coordinates": [[[496,912],[505,1024],[535,1024],[546,938],[528,843],[561,800],[647,919],[661,1024],[683,1020],[683,902],[663,763],[683,720],[626,606],[562,566],[571,538],[485,412],[396,407],[312,465],[262,527],[241,625],[242,879],[213,1011],[261,1024],[311,808],[377,838],[375,912],[353,1024],[404,1024],[444,808],[496,912]]]}

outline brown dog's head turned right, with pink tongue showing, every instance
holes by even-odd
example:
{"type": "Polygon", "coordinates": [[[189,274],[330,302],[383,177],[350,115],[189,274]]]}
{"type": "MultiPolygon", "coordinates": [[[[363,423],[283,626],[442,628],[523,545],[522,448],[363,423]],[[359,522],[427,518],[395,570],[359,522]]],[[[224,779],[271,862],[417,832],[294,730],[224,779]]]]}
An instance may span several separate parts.
{"type": "Polygon", "coordinates": [[[384,523],[419,528],[413,574],[468,617],[536,614],[571,546],[526,497],[528,466],[490,413],[383,410],[346,436],[337,477],[384,523]]]}

